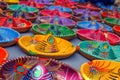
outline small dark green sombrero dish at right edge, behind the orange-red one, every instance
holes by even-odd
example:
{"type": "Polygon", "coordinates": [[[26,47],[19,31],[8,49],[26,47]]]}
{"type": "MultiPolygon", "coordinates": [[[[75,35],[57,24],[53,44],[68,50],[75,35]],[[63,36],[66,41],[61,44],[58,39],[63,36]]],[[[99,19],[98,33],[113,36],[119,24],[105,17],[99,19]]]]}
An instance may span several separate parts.
{"type": "Polygon", "coordinates": [[[117,18],[105,18],[105,23],[110,26],[120,25],[120,19],[117,18]]]}

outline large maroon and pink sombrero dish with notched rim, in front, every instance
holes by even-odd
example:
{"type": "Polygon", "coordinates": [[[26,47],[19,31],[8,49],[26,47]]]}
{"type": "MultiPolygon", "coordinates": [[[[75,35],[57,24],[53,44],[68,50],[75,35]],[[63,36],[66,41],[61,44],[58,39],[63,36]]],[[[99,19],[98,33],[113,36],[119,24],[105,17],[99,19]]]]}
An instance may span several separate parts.
{"type": "Polygon", "coordinates": [[[25,56],[8,60],[0,68],[0,79],[83,80],[80,73],[54,59],[25,56]],[[9,66],[9,67],[8,67],[9,66]]]}

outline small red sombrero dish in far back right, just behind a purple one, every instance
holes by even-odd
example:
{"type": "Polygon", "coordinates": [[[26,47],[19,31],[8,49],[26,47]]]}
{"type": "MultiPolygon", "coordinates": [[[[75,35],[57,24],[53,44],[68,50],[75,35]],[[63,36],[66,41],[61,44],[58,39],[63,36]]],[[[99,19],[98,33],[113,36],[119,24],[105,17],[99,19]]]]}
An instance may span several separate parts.
{"type": "Polygon", "coordinates": [[[79,3],[78,8],[80,9],[89,9],[91,11],[100,11],[101,9],[91,3],[79,3]]]}

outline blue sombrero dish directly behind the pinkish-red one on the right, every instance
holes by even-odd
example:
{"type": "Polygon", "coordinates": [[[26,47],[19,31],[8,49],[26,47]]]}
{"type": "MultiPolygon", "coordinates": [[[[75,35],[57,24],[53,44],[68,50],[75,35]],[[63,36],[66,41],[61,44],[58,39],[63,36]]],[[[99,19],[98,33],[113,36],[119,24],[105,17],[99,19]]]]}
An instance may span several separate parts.
{"type": "Polygon", "coordinates": [[[77,26],[83,29],[95,29],[95,30],[101,29],[112,31],[112,28],[109,25],[99,23],[97,21],[80,21],[77,23],[77,26]]]}

